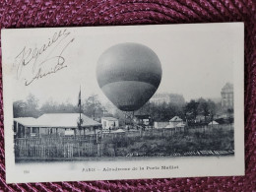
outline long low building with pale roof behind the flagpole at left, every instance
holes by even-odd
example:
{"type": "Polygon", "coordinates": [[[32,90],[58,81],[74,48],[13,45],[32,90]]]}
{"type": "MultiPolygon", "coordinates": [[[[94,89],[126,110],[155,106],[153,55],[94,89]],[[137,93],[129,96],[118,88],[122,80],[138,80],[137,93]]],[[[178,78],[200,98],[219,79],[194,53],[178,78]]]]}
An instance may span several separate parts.
{"type": "Polygon", "coordinates": [[[78,135],[96,134],[102,129],[100,123],[81,114],[81,130],[78,128],[80,113],[45,113],[38,118],[14,118],[14,135],[16,138],[40,137],[43,135],[78,135]]]}

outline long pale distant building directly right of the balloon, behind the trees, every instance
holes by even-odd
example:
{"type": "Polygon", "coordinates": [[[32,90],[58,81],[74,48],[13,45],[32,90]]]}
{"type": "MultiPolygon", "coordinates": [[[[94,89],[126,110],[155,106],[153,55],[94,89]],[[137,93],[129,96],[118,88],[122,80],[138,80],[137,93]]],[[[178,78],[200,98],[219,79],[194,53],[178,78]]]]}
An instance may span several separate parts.
{"type": "Polygon", "coordinates": [[[155,94],[150,99],[150,102],[161,104],[161,103],[176,103],[185,104],[185,99],[181,95],[177,94],[155,94]]]}

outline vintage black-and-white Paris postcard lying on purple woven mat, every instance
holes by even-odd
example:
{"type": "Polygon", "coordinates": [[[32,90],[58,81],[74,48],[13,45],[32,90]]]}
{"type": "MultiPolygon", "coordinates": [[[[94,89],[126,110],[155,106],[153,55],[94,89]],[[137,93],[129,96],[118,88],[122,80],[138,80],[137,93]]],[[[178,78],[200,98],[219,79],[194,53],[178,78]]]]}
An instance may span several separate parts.
{"type": "Polygon", "coordinates": [[[1,36],[8,183],[244,174],[243,23],[1,36]]]}

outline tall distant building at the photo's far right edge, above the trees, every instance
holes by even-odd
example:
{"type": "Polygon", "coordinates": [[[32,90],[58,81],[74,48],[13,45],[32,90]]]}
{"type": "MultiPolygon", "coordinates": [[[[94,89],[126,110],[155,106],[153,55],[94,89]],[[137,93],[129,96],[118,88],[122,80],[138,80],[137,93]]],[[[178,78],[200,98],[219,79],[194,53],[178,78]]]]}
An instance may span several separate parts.
{"type": "Polygon", "coordinates": [[[222,106],[224,109],[233,108],[233,85],[226,83],[222,89],[222,106]]]}

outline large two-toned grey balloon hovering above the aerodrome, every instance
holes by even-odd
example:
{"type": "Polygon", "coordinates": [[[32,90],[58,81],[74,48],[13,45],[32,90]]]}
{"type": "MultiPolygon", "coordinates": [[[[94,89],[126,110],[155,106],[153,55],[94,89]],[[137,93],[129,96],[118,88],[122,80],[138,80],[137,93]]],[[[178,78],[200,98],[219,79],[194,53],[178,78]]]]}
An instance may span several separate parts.
{"type": "Polygon", "coordinates": [[[96,79],[104,95],[117,108],[135,111],[160,86],[160,59],[151,48],[143,44],[119,43],[99,56],[96,79]]]}

